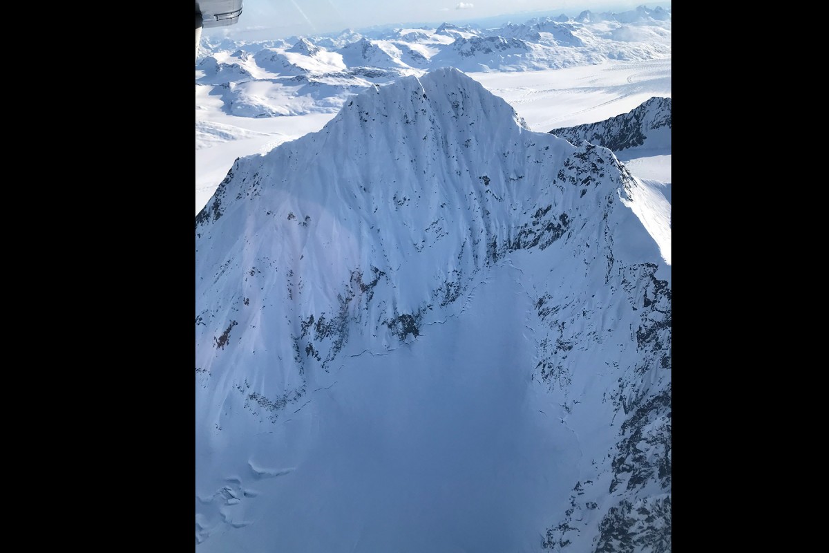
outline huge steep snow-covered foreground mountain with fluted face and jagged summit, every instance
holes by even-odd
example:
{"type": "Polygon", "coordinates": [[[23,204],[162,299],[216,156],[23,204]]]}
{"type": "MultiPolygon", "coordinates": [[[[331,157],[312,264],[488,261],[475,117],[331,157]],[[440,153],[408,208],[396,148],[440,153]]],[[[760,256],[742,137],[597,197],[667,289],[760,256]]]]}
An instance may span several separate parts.
{"type": "Polygon", "coordinates": [[[670,549],[639,186],[453,69],[237,160],[196,216],[197,550],[670,549]]]}

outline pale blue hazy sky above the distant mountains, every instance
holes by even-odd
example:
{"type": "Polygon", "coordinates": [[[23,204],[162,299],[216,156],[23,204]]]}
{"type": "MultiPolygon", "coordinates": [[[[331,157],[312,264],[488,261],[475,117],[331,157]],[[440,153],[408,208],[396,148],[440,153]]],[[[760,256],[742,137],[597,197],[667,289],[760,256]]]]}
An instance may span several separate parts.
{"type": "MultiPolygon", "coordinates": [[[[460,22],[482,17],[516,16],[526,12],[566,13],[622,12],[637,6],[670,7],[671,2],[642,0],[243,0],[239,22],[230,27],[205,29],[211,36],[227,34],[240,40],[268,40],[292,35],[313,35],[375,25],[397,27],[401,23],[460,22]]],[[[521,17],[505,17],[524,22],[521,17]]],[[[500,24],[497,23],[497,24],[500,24]]]]}

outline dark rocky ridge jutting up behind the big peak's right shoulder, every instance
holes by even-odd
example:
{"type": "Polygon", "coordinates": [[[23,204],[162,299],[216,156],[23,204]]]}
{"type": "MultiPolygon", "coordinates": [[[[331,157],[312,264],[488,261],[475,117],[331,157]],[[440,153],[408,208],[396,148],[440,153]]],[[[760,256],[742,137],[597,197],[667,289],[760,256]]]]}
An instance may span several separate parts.
{"type": "Polygon", "coordinates": [[[671,99],[653,97],[627,114],[598,123],[553,129],[550,134],[621,152],[628,148],[671,148],[671,99]]]}

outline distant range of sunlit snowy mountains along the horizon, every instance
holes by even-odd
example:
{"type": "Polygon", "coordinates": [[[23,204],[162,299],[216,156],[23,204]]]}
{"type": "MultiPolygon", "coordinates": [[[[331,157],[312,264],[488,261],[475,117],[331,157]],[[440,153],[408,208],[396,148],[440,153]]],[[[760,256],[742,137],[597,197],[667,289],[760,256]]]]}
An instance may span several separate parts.
{"type": "Polygon", "coordinates": [[[259,118],[336,113],[372,85],[439,67],[524,71],[670,56],[671,13],[638,7],[487,29],[444,23],[257,42],[203,36],[196,85],[211,87],[228,114],[259,118]]]}

